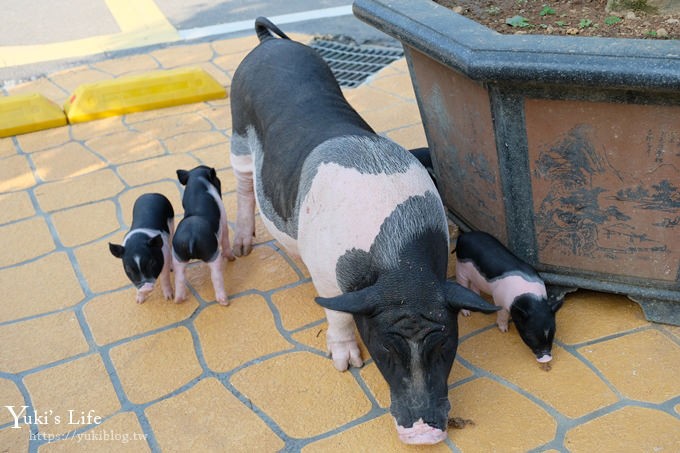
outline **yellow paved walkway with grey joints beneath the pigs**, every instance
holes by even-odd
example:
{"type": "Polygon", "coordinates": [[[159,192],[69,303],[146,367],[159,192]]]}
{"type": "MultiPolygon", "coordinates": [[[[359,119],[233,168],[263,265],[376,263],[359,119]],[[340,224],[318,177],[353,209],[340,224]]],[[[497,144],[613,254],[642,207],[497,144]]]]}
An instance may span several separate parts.
{"type": "MultiPolygon", "coordinates": [[[[187,65],[228,86],[254,43],[159,49],[10,94],[62,103],[84,82],[187,65]]],[[[380,133],[425,145],[404,60],[346,95],[380,133]]],[[[397,440],[375,364],[339,373],[325,357],[309,274],[259,220],[253,253],[226,265],[230,306],[201,265],[185,303],[159,288],[134,302],[107,242],[143,192],[165,193],[180,218],[175,170],[197,164],[218,169],[233,220],[230,123],[224,100],[0,139],[0,451],[418,450],[397,440]],[[15,426],[6,406],[25,419],[15,426]]],[[[474,425],[421,450],[680,451],[680,328],[648,323],[624,297],[577,292],[546,372],[513,327],[477,313],[459,324],[451,415],[474,425]]]]}

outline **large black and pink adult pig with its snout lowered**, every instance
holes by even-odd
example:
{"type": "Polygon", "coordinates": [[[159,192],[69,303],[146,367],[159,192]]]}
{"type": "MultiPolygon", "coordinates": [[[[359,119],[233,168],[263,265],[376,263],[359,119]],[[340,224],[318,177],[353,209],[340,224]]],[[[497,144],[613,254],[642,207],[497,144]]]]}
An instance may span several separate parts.
{"type": "Polygon", "coordinates": [[[425,168],[373,132],[316,51],[264,18],[255,29],[261,42],[230,95],[234,253],[252,248],[257,200],[271,234],[309,269],[335,367],[362,365],[356,322],[390,386],[401,440],[440,442],[457,314],[497,308],[446,281],[447,221],[425,168]]]}

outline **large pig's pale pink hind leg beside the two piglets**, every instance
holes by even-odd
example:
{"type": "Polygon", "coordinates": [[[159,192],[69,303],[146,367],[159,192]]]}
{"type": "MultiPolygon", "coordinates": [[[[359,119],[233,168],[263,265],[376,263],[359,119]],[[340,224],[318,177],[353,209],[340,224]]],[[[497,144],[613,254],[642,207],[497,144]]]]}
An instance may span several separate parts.
{"type": "MultiPolygon", "coordinates": [[[[237,156],[232,155],[232,165],[237,156]]],[[[243,158],[243,157],[241,157],[243,158]]],[[[252,167],[252,165],[251,165],[252,167]]],[[[234,255],[248,255],[253,249],[255,237],[255,192],[253,172],[250,169],[237,170],[236,176],[236,231],[234,233],[234,255]]]]}

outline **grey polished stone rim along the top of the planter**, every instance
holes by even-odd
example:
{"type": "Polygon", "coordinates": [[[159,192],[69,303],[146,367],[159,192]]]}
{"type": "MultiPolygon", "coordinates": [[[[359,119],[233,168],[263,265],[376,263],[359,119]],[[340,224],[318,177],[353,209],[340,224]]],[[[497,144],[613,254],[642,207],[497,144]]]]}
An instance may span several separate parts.
{"type": "Polygon", "coordinates": [[[503,35],[431,0],[355,0],[353,12],[481,82],[680,92],[680,40],[503,35]]]}

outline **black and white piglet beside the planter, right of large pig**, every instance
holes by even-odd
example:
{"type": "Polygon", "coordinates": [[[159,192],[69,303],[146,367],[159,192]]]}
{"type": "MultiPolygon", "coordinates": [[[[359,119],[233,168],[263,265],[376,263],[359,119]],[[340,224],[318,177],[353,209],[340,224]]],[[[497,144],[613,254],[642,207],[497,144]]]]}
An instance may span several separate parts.
{"type": "MultiPolygon", "coordinates": [[[[555,312],[563,298],[548,297],[538,272],[496,238],[481,231],[463,233],[456,243],[456,281],[477,294],[490,294],[501,307],[496,323],[508,331],[512,317],[522,341],[540,363],[552,360],[555,312]]],[[[464,316],[469,316],[463,310],[464,316]]]]}

